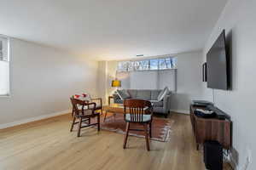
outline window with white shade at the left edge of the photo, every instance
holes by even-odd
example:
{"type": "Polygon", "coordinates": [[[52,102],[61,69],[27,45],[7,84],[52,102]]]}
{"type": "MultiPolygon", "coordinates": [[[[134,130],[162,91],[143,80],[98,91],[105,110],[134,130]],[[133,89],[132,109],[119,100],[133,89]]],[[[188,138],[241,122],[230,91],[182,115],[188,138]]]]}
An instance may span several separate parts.
{"type": "Polygon", "coordinates": [[[0,96],[9,95],[9,41],[0,37],[0,96]]]}

